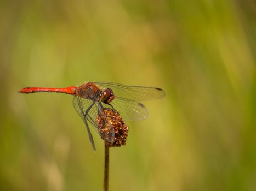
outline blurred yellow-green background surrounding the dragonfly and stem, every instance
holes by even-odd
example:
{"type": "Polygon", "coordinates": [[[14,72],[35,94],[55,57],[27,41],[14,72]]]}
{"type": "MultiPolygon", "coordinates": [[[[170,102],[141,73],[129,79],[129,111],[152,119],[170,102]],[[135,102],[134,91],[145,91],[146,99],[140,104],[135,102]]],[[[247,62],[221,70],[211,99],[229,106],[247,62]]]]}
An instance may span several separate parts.
{"type": "Polygon", "coordinates": [[[0,190],[101,190],[104,144],[72,96],[160,87],[110,153],[110,190],[256,190],[256,3],[0,1],[0,190]]]}

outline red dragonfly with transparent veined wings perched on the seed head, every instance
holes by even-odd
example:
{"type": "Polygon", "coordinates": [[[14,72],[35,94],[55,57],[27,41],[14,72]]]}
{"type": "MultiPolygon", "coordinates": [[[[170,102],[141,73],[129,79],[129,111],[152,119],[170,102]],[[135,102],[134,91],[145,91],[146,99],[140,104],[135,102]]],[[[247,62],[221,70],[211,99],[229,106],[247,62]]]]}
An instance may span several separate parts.
{"type": "MultiPolygon", "coordinates": [[[[136,121],[149,117],[149,113],[139,101],[163,98],[165,93],[161,88],[126,86],[112,82],[87,82],[81,86],[66,88],[26,87],[19,93],[57,92],[73,95],[73,106],[86,124],[90,143],[96,151],[89,124],[97,128],[96,116],[103,108],[117,110],[124,120],[136,121]],[[89,122],[89,123],[88,123],[89,122]]],[[[106,141],[113,142],[115,132],[112,128],[106,141]]]]}

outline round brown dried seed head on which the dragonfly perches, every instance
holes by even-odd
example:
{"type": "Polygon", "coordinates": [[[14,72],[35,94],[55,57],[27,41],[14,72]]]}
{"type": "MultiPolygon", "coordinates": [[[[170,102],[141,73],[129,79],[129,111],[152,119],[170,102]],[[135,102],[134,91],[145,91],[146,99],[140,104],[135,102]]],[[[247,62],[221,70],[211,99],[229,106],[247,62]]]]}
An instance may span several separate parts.
{"type": "Polygon", "coordinates": [[[98,132],[101,139],[106,140],[109,147],[120,147],[126,145],[129,127],[124,123],[120,114],[111,108],[103,108],[96,117],[98,132]],[[110,138],[111,130],[115,132],[113,141],[107,141],[110,138]]]}

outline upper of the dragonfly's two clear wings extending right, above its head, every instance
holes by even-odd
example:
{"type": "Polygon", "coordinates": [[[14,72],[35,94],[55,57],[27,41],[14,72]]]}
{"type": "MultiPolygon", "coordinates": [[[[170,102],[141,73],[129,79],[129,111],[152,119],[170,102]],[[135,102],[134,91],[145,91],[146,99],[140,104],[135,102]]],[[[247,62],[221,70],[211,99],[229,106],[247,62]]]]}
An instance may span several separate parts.
{"type": "Polygon", "coordinates": [[[126,86],[112,82],[95,82],[101,88],[111,88],[115,97],[131,99],[134,101],[145,101],[163,98],[163,89],[157,87],[126,86]]]}

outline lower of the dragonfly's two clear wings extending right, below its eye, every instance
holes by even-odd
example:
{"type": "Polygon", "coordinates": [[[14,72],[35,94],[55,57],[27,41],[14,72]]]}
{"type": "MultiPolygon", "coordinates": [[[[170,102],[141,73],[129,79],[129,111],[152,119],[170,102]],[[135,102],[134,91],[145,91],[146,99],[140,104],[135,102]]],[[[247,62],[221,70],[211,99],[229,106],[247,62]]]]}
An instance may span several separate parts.
{"type": "MultiPolygon", "coordinates": [[[[145,120],[149,117],[146,107],[133,100],[115,97],[110,103],[120,116],[127,121],[145,120]]],[[[105,108],[111,108],[111,105],[103,104],[105,108]]]]}

